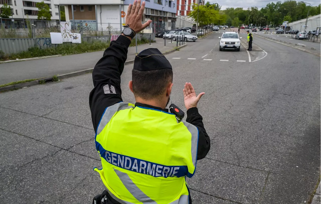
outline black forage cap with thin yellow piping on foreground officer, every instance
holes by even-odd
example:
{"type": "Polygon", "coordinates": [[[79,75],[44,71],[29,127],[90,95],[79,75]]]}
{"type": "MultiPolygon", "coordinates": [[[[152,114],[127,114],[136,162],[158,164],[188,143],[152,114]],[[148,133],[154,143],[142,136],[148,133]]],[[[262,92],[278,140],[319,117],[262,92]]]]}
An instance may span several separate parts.
{"type": "Polygon", "coordinates": [[[136,54],[134,69],[139,71],[172,69],[172,65],[157,48],[149,48],[136,54]]]}

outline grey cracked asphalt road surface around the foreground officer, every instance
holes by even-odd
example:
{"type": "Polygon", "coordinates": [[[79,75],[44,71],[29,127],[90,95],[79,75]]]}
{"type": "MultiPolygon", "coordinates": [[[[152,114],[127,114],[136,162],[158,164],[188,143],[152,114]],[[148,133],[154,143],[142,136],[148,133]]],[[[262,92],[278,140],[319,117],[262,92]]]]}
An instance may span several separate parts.
{"type": "MultiPolygon", "coordinates": [[[[264,51],[249,62],[244,47],[220,52],[219,36],[166,55],[173,103],[184,108],[185,82],[206,93],[198,107],[211,150],[187,180],[194,203],[304,203],[321,170],[321,59],[255,38],[264,51]]],[[[127,102],[132,67],[122,75],[127,102]]],[[[103,190],[91,89],[87,74],[0,94],[2,203],[91,203],[103,190]]]]}

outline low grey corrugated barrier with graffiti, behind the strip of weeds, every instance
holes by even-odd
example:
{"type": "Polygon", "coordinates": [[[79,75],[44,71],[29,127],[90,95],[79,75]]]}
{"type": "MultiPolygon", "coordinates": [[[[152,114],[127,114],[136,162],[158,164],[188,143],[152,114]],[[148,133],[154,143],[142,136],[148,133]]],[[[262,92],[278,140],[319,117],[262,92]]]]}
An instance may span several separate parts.
{"type": "MultiPolygon", "coordinates": [[[[105,36],[87,36],[82,37],[82,42],[93,43],[96,41],[99,42],[110,42],[111,40],[116,40],[119,35],[105,35],[105,36]]],[[[136,35],[137,40],[152,39],[154,40],[154,34],[146,34],[146,33],[138,33],[136,35]]],[[[22,51],[27,51],[31,47],[39,47],[40,49],[46,49],[53,46],[51,44],[50,37],[40,37],[40,38],[0,38],[0,51],[4,52],[4,54],[13,54],[20,53],[22,51]]]]}

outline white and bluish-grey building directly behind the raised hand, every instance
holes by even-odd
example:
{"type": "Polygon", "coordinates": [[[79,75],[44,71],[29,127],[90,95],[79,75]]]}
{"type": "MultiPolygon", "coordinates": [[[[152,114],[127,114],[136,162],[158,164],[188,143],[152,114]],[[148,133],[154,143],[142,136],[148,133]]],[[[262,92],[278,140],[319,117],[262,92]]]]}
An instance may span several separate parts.
{"type": "MultiPolygon", "coordinates": [[[[55,0],[55,4],[65,6],[66,21],[86,23],[91,28],[106,29],[108,26],[118,31],[123,29],[129,4],[134,0],[55,0]]],[[[174,29],[176,5],[174,0],[145,0],[142,22],[153,20],[153,32],[174,29]]]]}

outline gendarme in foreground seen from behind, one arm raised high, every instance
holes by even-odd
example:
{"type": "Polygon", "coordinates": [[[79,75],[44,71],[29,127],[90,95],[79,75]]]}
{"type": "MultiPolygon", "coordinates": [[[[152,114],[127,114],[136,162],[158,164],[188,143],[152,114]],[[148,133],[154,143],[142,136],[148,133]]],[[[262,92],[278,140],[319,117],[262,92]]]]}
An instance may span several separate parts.
{"type": "Polygon", "coordinates": [[[93,72],[94,88],[89,103],[96,149],[100,154],[100,174],[106,191],[93,203],[188,204],[186,176],[192,177],[196,160],[210,149],[197,103],[205,93],[195,94],[190,83],[183,89],[186,121],[182,111],[166,109],[172,90],[173,71],[158,49],[136,55],[129,89],[135,104],[123,102],[120,76],[128,46],[142,24],[145,2],[129,4],[121,36],[112,41],[93,72]],[[101,200],[100,200],[101,199],[101,200]]]}

